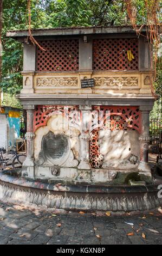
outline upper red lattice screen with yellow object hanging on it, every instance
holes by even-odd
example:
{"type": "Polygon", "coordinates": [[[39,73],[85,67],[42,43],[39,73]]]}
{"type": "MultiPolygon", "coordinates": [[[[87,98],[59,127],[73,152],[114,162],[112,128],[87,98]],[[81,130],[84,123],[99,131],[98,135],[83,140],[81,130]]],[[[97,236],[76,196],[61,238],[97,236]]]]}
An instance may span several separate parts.
{"type": "Polygon", "coordinates": [[[138,70],[138,39],[93,40],[93,70],[138,70]],[[129,61],[127,51],[134,59],[129,61]]]}

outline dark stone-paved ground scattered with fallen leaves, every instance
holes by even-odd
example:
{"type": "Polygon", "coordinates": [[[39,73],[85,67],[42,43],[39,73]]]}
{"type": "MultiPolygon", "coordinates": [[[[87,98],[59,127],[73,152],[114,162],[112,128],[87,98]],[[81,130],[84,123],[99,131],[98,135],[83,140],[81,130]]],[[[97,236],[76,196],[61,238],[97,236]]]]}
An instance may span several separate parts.
{"type": "Polygon", "coordinates": [[[0,202],[0,245],[162,244],[162,214],[151,213],[145,216],[50,214],[0,202]]]}

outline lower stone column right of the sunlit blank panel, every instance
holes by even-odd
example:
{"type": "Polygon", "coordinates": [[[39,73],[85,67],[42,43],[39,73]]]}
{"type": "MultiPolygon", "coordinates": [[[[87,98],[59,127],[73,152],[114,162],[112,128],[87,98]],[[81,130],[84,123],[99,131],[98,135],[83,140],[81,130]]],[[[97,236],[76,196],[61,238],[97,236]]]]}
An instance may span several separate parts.
{"type": "Polygon", "coordinates": [[[148,144],[150,142],[149,137],[149,113],[152,110],[150,106],[140,106],[141,112],[141,135],[140,140],[140,164],[138,169],[140,174],[151,176],[151,168],[148,165],[148,144]]]}

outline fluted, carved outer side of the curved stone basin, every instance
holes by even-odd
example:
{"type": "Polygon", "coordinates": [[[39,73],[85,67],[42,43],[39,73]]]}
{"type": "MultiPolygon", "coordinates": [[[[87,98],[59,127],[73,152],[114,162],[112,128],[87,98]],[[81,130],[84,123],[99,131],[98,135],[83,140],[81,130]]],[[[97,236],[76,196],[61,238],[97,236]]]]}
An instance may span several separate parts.
{"type": "MultiPolygon", "coordinates": [[[[112,174],[113,175],[113,174],[112,174]]],[[[9,176],[9,175],[8,175],[9,176]]],[[[1,177],[2,179],[2,177],[1,177]]],[[[6,178],[5,178],[6,179],[6,178]]],[[[11,179],[11,178],[10,178],[11,179]]],[[[16,180],[10,184],[0,180],[0,193],[2,198],[8,202],[34,203],[35,205],[45,205],[48,208],[58,209],[79,209],[94,212],[98,211],[135,211],[155,209],[162,205],[161,198],[158,198],[157,192],[147,193],[75,193],[73,191],[51,191],[46,190],[45,184],[33,182],[38,188],[31,189],[31,181],[19,179],[23,186],[17,185],[16,180]],[[22,181],[21,181],[22,180],[22,181]],[[29,183],[30,182],[30,183],[29,183]],[[27,186],[28,185],[28,186],[27,186]],[[17,194],[19,197],[17,198],[17,194]]],[[[10,181],[11,182],[11,181],[10,181]]],[[[48,184],[50,186],[50,184],[48,184]]],[[[130,188],[128,188],[130,189],[130,188]]],[[[57,188],[57,190],[59,190],[57,188]]],[[[123,189],[123,191],[125,188],[123,189]]]]}

